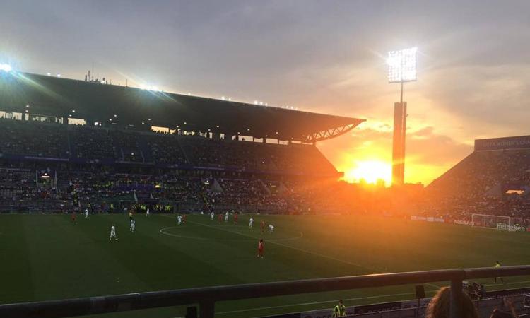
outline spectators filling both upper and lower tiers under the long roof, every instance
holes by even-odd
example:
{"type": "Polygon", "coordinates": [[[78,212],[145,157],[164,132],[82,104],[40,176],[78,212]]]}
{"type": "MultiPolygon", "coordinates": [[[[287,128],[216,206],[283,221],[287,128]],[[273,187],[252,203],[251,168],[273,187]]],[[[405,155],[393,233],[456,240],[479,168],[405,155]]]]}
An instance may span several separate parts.
{"type": "Polygon", "coordinates": [[[314,146],[13,120],[1,129],[10,146],[0,148],[0,158],[6,155],[0,167],[18,163],[25,173],[25,179],[6,178],[3,201],[57,201],[61,211],[88,202],[101,211],[111,202],[269,213],[349,213],[354,207],[351,192],[314,146]],[[71,160],[10,157],[36,153],[71,160]],[[40,170],[53,177],[39,180],[40,170]]]}

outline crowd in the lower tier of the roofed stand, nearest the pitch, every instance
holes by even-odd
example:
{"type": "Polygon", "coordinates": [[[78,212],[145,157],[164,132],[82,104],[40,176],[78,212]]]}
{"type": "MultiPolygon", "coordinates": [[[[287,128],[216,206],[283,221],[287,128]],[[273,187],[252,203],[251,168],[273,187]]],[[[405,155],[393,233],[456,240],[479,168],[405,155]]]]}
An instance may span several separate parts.
{"type": "MultiPolygon", "coordinates": [[[[177,211],[240,211],[306,213],[309,194],[303,189],[271,191],[264,179],[213,177],[174,169],[124,172],[105,165],[61,169],[35,167],[0,168],[0,209],[13,211],[76,211],[85,206],[108,212],[110,204],[169,204],[177,211]],[[307,198],[307,202],[301,198],[307,198]]],[[[266,180],[272,184],[271,180],[266,180]]],[[[117,208],[115,211],[121,211],[117,208]]]]}

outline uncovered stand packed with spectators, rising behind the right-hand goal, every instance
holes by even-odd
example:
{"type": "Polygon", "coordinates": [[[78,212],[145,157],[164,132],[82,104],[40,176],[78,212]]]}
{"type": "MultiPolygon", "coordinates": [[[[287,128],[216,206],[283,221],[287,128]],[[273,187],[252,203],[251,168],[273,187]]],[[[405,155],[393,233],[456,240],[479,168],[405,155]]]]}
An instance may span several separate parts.
{"type": "Polygon", "coordinates": [[[471,155],[425,190],[424,215],[488,227],[528,227],[530,136],[476,140],[471,155]]]}

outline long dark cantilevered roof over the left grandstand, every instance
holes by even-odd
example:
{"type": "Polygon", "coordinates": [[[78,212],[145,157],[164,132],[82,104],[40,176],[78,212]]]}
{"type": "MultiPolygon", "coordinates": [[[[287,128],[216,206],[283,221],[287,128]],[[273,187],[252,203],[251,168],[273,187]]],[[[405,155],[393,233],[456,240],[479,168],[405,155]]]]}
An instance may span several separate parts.
{"type": "Polygon", "coordinates": [[[163,126],[303,142],[345,134],[364,121],[14,72],[0,75],[0,110],[86,119],[88,124],[100,122],[105,126],[134,126],[135,129],[163,126]]]}

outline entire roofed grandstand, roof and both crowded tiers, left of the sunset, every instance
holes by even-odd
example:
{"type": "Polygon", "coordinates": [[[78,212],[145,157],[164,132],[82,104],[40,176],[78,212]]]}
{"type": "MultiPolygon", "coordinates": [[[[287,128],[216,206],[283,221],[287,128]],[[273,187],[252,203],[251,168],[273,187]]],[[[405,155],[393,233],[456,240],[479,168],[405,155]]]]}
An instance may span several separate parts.
{"type": "Polygon", "coordinates": [[[0,76],[0,117],[0,208],[43,212],[343,208],[315,143],[363,122],[28,73],[0,76]]]}

